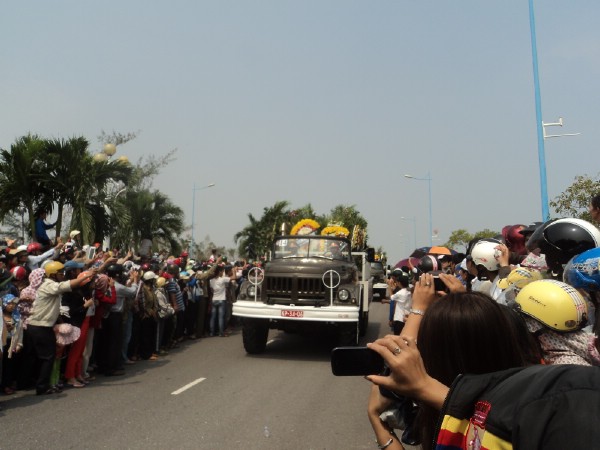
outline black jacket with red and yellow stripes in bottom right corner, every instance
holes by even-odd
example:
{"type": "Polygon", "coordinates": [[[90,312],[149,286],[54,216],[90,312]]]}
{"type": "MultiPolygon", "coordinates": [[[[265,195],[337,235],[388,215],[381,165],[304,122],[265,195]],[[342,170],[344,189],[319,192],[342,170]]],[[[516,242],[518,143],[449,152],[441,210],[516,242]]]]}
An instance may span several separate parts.
{"type": "Polygon", "coordinates": [[[436,448],[469,448],[477,424],[482,448],[595,448],[599,413],[600,367],[539,365],[462,375],[442,409],[436,448]]]}

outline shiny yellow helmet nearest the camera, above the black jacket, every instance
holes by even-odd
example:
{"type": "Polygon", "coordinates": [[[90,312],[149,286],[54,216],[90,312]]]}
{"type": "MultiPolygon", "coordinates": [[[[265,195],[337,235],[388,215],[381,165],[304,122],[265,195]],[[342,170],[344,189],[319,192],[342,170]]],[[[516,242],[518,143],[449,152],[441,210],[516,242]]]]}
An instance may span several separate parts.
{"type": "Polygon", "coordinates": [[[587,320],[585,299],[562,281],[533,281],[521,289],[515,300],[522,313],[555,331],[576,331],[587,320]]]}

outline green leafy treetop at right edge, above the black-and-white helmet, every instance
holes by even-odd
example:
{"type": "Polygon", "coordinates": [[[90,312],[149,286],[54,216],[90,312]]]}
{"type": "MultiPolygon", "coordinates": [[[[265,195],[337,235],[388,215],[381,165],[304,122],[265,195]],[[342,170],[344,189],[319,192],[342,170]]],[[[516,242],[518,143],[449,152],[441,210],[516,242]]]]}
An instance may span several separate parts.
{"type": "Polygon", "coordinates": [[[590,200],[600,193],[600,178],[593,179],[587,175],[578,175],[573,184],[565,192],[550,201],[559,217],[576,217],[590,221],[588,211],[590,200]]]}

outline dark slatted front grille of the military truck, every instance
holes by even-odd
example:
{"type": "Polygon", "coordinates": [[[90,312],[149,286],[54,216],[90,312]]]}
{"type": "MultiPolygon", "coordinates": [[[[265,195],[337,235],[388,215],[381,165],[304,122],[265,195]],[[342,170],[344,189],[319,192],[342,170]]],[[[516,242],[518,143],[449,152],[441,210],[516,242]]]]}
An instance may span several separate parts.
{"type": "Polygon", "coordinates": [[[320,278],[267,277],[262,295],[271,304],[311,305],[322,304],[330,293],[320,278]]]}

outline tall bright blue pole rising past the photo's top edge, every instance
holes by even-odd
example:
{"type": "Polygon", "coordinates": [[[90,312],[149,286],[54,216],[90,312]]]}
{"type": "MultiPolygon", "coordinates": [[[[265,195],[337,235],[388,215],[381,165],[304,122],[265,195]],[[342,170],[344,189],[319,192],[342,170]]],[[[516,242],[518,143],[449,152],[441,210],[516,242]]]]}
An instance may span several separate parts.
{"type": "Polygon", "coordinates": [[[542,122],[542,99],[537,63],[537,44],[535,39],[535,17],[533,0],[529,0],[529,28],[531,30],[531,58],[533,60],[533,89],[535,92],[535,118],[538,135],[538,160],[540,165],[540,193],[542,197],[542,221],[550,219],[548,211],[548,184],[546,180],[546,151],[544,148],[544,124],[542,122]]]}

